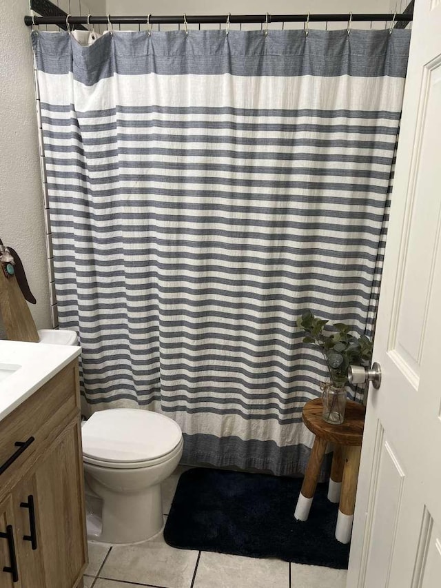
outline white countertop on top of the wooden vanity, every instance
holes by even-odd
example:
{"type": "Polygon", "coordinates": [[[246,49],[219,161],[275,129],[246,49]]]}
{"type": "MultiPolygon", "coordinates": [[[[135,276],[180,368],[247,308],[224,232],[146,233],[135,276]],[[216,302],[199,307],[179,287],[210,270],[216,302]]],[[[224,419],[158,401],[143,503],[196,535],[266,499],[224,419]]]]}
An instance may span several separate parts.
{"type": "Polygon", "coordinates": [[[0,341],[0,370],[20,366],[0,381],[0,420],[80,353],[81,347],[74,345],[0,341]]]}

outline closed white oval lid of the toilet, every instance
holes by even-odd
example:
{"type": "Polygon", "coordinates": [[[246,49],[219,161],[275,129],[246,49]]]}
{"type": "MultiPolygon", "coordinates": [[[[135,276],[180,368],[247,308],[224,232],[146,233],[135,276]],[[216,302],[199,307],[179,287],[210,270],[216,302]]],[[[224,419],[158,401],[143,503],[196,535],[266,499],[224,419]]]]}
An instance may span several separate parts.
{"type": "Polygon", "coordinates": [[[144,462],[172,452],[182,438],[174,420],[149,410],[95,412],[81,428],[83,455],[119,463],[144,462]]]}

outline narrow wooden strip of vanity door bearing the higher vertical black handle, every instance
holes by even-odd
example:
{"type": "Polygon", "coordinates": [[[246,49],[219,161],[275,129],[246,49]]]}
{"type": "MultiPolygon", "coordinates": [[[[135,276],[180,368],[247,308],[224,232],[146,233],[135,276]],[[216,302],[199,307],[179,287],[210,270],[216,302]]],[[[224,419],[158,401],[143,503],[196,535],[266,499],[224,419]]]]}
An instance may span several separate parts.
{"type": "Polygon", "coordinates": [[[21,588],[45,588],[41,533],[35,474],[23,478],[12,491],[15,543],[21,588]]]}

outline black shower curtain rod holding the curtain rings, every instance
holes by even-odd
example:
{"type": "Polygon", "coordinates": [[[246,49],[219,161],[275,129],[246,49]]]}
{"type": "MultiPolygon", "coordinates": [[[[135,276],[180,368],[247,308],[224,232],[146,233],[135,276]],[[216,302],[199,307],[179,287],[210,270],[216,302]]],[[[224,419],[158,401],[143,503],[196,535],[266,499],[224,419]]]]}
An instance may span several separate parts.
{"type": "MultiPolygon", "coordinates": [[[[150,14],[149,17],[147,15],[142,15],[139,17],[136,16],[112,16],[109,17],[94,17],[92,15],[83,15],[81,17],[74,17],[72,15],[66,16],[43,16],[43,17],[31,17],[26,15],[25,25],[32,26],[34,25],[58,25],[61,28],[66,28],[66,21],[70,25],[103,25],[107,24],[110,21],[110,24],[116,25],[128,25],[128,24],[136,24],[142,25],[147,24],[185,24],[187,21],[188,24],[226,24],[227,23],[227,15],[226,14],[217,14],[217,15],[199,15],[199,16],[192,16],[191,14],[178,14],[175,16],[154,16],[154,14],[150,14]]],[[[409,22],[413,18],[411,13],[403,13],[403,14],[230,14],[229,15],[229,22],[230,23],[301,23],[309,21],[310,23],[317,23],[317,22],[347,22],[351,20],[352,22],[362,22],[362,21],[393,21],[396,22],[405,21],[409,22]]]]}

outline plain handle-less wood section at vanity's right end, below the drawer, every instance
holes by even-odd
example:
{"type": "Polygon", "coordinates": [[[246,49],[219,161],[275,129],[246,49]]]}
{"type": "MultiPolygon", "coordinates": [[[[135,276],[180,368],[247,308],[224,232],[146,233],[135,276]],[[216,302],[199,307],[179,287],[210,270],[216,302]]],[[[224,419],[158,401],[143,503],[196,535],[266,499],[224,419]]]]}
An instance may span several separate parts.
{"type": "Polygon", "coordinates": [[[45,588],[72,588],[87,562],[79,418],[42,456],[35,479],[45,588]]]}

